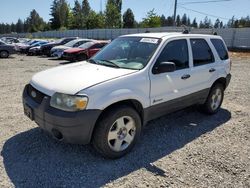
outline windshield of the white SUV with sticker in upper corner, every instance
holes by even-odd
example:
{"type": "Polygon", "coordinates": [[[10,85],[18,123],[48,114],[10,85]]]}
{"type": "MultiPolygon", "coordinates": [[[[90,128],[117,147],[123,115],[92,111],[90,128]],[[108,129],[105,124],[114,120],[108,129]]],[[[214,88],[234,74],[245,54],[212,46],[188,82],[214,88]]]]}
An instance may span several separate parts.
{"type": "Polygon", "coordinates": [[[120,37],[92,59],[98,64],[141,70],[147,65],[159,43],[160,39],[156,38],[120,37]]]}

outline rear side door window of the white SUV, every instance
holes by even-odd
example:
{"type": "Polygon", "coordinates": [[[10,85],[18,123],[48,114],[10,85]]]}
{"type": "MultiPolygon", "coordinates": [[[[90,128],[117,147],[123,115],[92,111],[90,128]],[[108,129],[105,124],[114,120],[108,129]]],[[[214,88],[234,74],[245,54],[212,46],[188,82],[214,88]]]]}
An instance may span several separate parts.
{"type": "Polygon", "coordinates": [[[208,43],[204,39],[190,39],[194,66],[214,63],[214,55],[208,43]]]}

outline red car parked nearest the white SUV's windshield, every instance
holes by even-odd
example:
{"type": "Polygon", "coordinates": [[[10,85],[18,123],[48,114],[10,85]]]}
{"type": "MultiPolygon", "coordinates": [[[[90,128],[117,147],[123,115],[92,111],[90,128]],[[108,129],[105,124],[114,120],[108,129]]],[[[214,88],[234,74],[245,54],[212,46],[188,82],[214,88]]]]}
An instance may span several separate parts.
{"type": "Polygon", "coordinates": [[[70,48],[63,52],[62,58],[68,61],[83,61],[99,52],[109,41],[91,41],[77,48],[70,48]]]}

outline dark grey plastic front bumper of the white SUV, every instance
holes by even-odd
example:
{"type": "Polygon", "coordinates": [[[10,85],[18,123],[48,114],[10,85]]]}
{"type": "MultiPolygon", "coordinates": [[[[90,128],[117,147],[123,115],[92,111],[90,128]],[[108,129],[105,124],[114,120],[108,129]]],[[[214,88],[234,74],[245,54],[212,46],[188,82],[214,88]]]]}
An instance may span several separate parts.
{"type": "MultiPolygon", "coordinates": [[[[72,144],[88,144],[101,110],[65,112],[50,106],[50,97],[44,96],[41,104],[28,93],[29,85],[23,91],[23,105],[32,111],[32,119],[40,128],[54,138],[72,144]]],[[[34,90],[36,91],[36,90],[34,90]]]]}

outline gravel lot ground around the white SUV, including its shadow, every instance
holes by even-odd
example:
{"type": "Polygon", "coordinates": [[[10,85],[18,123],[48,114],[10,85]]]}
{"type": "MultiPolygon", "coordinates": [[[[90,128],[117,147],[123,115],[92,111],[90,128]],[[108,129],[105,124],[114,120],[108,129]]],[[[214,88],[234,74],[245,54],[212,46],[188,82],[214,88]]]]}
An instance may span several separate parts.
{"type": "Polygon", "coordinates": [[[59,143],[23,115],[24,85],[60,61],[0,59],[0,187],[250,187],[250,55],[231,55],[218,114],[191,107],[154,120],[119,160],[59,143]]]}

